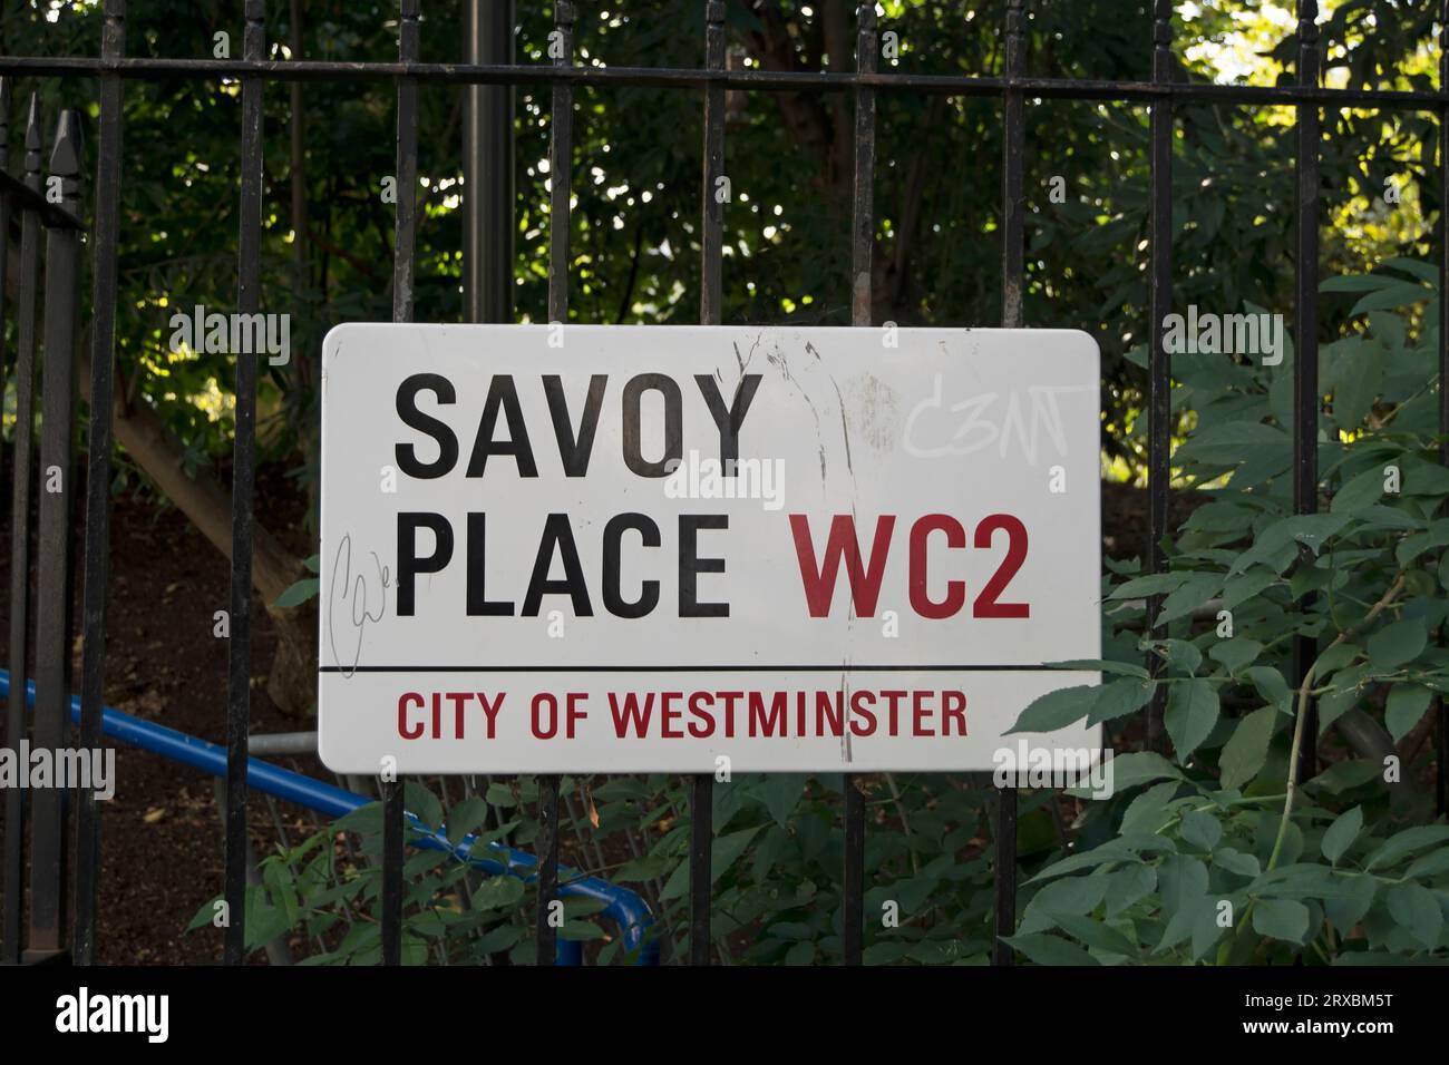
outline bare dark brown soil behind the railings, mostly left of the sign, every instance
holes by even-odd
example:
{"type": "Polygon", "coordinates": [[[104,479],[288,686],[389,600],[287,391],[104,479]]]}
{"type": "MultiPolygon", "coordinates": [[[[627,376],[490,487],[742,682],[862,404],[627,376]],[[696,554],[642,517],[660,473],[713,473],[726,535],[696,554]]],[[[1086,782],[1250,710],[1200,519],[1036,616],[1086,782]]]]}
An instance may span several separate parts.
{"type": "MultiPolygon", "coordinates": [[[[10,485],[0,477],[0,655],[9,646],[10,485]]],[[[310,554],[301,530],[303,500],[293,483],[264,477],[256,520],[300,555],[310,554]]],[[[1187,517],[1174,500],[1172,525],[1187,517]]],[[[1146,496],[1104,485],[1104,551],[1116,558],[1145,549],[1146,496]]],[[[83,526],[75,522],[77,543],[83,526]]],[[[80,556],[77,551],[77,556],[80,556]]],[[[213,614],[229,598],[229,564],[177,510],[119,498],[112,516],[112,593],[107,620],[106,704],[149,722],[225,742],[227,642],[213,636],[213,614]]],[[[32,574],[33,580],[33,574],[32,574]]],[[[80,611],[77,580],[75,617],[80,611]]],[[[265,694],[274,633],[254,600],[252,732],[312,727],[283,714],[265,694]]],[[[6,655],[7,658],[7,655],[6,655]]],[[[4,662],[9,667],[9,662],[4,662]]],[[[80,640],[75,643],[75,687],[80,640]]],[[[7,740],[9,743],[9,740],[7,740]]],[[[312,758],[294,768],[332,780],[312,758]]],[[[222,888],[222,830],[213,778],[141,751],[117,746],[116,795],[103,803],[97,959],[106,964],[206,964],[220,956],[220,930],[184,929],[222,888]]],[[[304,811],[280,804],[293,843],[316,830],[304,811]]],[[[0,835],[6,832],[0,804],[0,835]]],[[[254,848],[270,853],[277,826],[259,797],[249,810],[254,848]]],[[[565,845],[565,861],[569,861],[565,845]]],[[[3,888],[0,888],[3,890],[3,888]]],[[[300,945],[298,945],[300,946],[300,945]]],[[[256,961],[261,956],[256,955],[256,961]]]]}

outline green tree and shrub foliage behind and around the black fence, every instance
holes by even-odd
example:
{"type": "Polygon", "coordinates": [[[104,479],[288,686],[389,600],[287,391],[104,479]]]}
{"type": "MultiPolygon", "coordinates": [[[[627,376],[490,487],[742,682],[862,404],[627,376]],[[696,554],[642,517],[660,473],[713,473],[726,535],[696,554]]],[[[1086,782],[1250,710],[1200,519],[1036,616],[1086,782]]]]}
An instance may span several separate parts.
{"type": "MultiPolygon", "coordinates": [[[[239,48],[236,4],[158,0],[135,6],[128,52],[212,55],[239,48]]],[[[307,58],[391,59],[390,4],[313,0],[296,28],[307,58]]],[[[639,0],[581,12],[580,62],[693,67],[703,4],[639,0]]],[[[1272,84],[1295,77],[1291,17],[1266,0],[1182,4],[1179,77],[1272,84]]],[[[1333,85],[1433,88],[1436,6],[1427,0],[1324,4],[1324,80],[1333,85]]],[[[426,4],[423,55],[455,59],[459,4],[426,4]]],[[[548,62],[546,4],[520,4],[519,62],[548,62]]],[[[890,0],[898,70],[1000,72],[1003,4],[890,0]]],[[[1029,3],[1033,75],[1108,81],[1151,75],[1143,0],[1029,3]]],[[[99,9],[16,7],[10,54],[97,49],[99,9]]],[[[730,62],[769,70],[853,64],[840,3],[732,0],[730,62]]],[[[277,13],[274,42],[294,28],[277,13]]],[[[275,58],[290,51],[271,45],[275,58]]],[[[887,64],[888,67],[888,64],[887,64]]],[[[36,85],[48,113],[94,117],[91,85],[36,85]]],[[[26,87],[22,85],[22,90],[26,87]]],[[[461,313],[461,90],[420,96],[417,317],[461,313]]],[[[317,359],[326,329],[390,313],[391,210],[380,190],[396,168],[387,83],[306,83],[301,107],[271,84],[265,99],[264,310],[293,314],[291,365],[262,394],[264,458],[304,483],[316,475],[317,359]],[[291,123],[303,145],[296,172],[291,123]],[[291,203],[301,194],[300,226],[291,203]]],[[[516,307],[546,307],[549,97],[519,88],[516,307]]],[[[843,94],[730,93],[724,213],[724,320],[843,325],[848,312],[851,100],[843,94]]],[[[1291,107],[1184,104],[1172,172],[1175,306],[1227,314],[1294,307],[1291,107]]],[[[1449,475],[1437,430],[1437,270],[1430,223],[1437,130],[1417,112],[1324,109],[1317,440],[1320,513],[1295,516],[1293,352],[1281,365],[1223,354],[1174,359],[1174,483],[1201,506],[1168,545],[1168,572],[1111,559],[1103,578],[1107,682],[1026,711],[1033,724],[1095,716],[1110,743],[1140,748],[1140,707],[1166,703],[1171,756],[1124,753],[1119,795],[1084,803],[1023,795],[1023,909],[1014,946],[1058,962],[1362,962],[1443,959],[1449,849],[1430,788],[1430,726],[1449,682],[1440,643],[1449,475]],[[1392,190],[1394,196],[1388,196],[1392,190]],[[1390,471],[1395,472],[1390,472],[1390,471]],[[1149,617],[1148,604],[1158,613],[1149,617]],[[1300,606],[1303,603],[1303,606],[1300,606]],[[1229,611],[1230,629],[1224,629],[1229,611]],[[1313,642],[1295,684],[1291,652],[1313,642]],[[1143,661],[1161,669],[1142,677],[1143,661]],[[1304,713],[1324,733],[1320,772],[1293,772],[1304,713]],[[1397,759],[1385,778],[1384,759],[1397,759]],[[1388,777],[1394,777],[1392,772],[1388,777]],[[1226,914],[1226,917],[1224,917],[1226,914]],[[1226,920],[1226,923],[1224,923],[1226,920]]],[[[1140,106],[1032,100],[1026,200],[1030,325],[1093,332],[1104,354],[1104,464],[1140,480],[1148,336],[1148,113],[1140,106]],[[1066,196],[1049,196],[1061,178],[1066,196]]],[[[582,88],[575,94],[571,187],[571,319],[697,317],[701,100],[696,91],[582,88]]],[[[12,130],[14,126],[12,126],[12,130]]],[[[154,410],[199,475],[230,446],[226,356],[168,349],[170,316],[235,304],[239,93],[230,83],[126,83],[122,185],[120,375],[128,401],[154,410]]],[[[12,141],[14,138],[12,136],[12,141]]],[[[875,178],[877,320],[1000,320],[1001,112],[993,97],[882,93],[875,178]]],[[[142,469],[128,471],[145,484],[142,469]]],[[[298,597],[306,590],[298,593],[298,597]]],[[[414,791],[436,824],[475,820],[490,839],[529,846],[533,781],[493,781],[446,803],[414,791]],[[472,806],[469,806],[469,803],[472,806]],[[467,814],[459,814],[465,809],[467,814]]],[[[736,778],[716,788],[716,917],[736,961],[839,958],[838,777],[736,778]]],[[[865,778],[867,959],[981,962],[991,939],[990,788],[929,774],[865,778]],[[898,927],[881,923],[895,904],[898,927]]],[[[580,865],[636,885],[662,935],[684,940],[687,788],[665,777],[567,778],[564,829],[580,865]],[[622,856],[627,855],[627,856],[622,856]]],[[[338,826],[371,833],[364,819],[338,826]]],[[[293,929],[319,956],[377,951],[377,871],[330,833],[265,862],[252,937],[293,929]],[[356,920],[354,920],[356,917],[356,920]],[[349,930],[343,932],[343,926],[349,930]]],[[[469,881],[446,855],[409,866],[410,956],[527,958],[532,890],[469,881]],[[471,901],[469,901],[471,900],[471,901]],[[478,901],[483,900],[483,901],[478,901]]],[[[568,936],[597,926],[571,914],[568,936]]],[[[614,959],[617,943],[604,946],[614,959]]]]}

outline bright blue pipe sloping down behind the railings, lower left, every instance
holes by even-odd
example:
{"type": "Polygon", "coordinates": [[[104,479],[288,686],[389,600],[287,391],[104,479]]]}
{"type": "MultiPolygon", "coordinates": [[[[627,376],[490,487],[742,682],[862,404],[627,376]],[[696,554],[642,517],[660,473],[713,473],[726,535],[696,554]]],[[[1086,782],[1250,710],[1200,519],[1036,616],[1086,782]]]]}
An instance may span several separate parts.
{"type": "MultiPolygon", "coordinates": [[[[0,669],[0,697],[10,696],[10,674],[0,669]]],[[[25,685],[26,706],[35,706],[35,681],[25,685]]],[[[71,697],[71,723],[80,724],[81,700],[71,697]]],[[[188,736],[184,732],[168,729],[164,724],[145,722],[112,707],[101,709],[101,732],[112,739],[128,746],[149,751],[154,755],[170,758],[174,762],[190,765],[213,777],[226,775],[226,748],[207,743],[204,739],[188,736]]],[[[246,759],[246,787],[267,795],[284,798],[288,803],[306,806],[317,813],[336,820],[352,813],[369,801],[352,791],[325,784],[304,777],[300,772],[283,769],[278,765],[262,762],[256,758],[246,759]]],[[[436,832],[425,826],[416,814],[409,813],[407,820],[414,835],[410,839],[413,846],[426,851],[448,851],[459,862],[468,862],[474,868],[493,877],[516,877],[523,882],[532,882],[538,858],[523,851],[514,851],[503,843],[487,845],[493,852],[490,856],[469,855],[474,833],[464,836],[456,845],[448,842],[445,827],[436,832]]],[[[558,868],[558,893],[562,897],[590,898],[604,904],[604,916],[617,927],[626,953],[636,953],[635,965],[658,965],[659,942],[649,935],[653,927],[653,914],[649,906],[633,891],[610,884],[598,877],[578,877],[568,866],[558,868]]],[[[558,942],[558,964],[578,965],[582,961],[582,945],[575,940],[561,939],[558,942]]]]}

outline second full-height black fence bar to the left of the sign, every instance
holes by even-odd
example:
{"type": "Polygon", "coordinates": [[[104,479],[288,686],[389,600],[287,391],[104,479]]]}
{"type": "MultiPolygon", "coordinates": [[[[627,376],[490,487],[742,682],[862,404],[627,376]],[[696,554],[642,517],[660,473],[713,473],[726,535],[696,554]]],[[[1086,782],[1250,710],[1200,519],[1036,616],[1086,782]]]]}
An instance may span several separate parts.
{"type": "MultiPolygon", "coordinates": [[[[126,49],[126,3],[106,0],[101,59],[126,49]]],[[[100,78],[100,152],[96,172],[96,220],[91,259],[90,455],[85,481],[85,600],[81,645],[81,749],[100,749],[100,711],[106,690],[106,585],[110,556],[112,368],[116,352],[116,239],[120,213],[122,85],[100,78]]],[[[75,961],[96,958],[96,895],[100,880],[100,809],[96,793],[81,790],[75,822],[75,961]]]]}

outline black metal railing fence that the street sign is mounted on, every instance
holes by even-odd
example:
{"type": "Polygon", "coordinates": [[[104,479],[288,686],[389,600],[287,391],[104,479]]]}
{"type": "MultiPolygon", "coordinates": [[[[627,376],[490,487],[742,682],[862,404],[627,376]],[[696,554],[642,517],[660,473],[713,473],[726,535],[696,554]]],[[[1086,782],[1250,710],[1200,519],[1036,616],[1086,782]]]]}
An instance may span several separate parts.
{"type": "MultiPolygon", "coordinates": [[[[1149,529],[1148,572],[1161,571],[1162,538],[1168,530],[1168,483],[1171,459],[1171,365],[1164,342],[1164,322],[1172,310],[1172,136],[1174,106],[1178,103],[1291,104],[1297,109],[1297,322],[1294,361],[1294,500],[1297,513],[1317,507],[1317,439],[1321,394],[1317,387],[1317,294],[1319,294],[1319,141],[1320,109],[1362,106],[1417,110],[1436,114],[1440,123],[1440,203],[1449,203],[1449,51],[1440,58],[1440,91],[1394,91],[1371,88],[1327,90],[1319,85],[1319,30],[1316,0],[1298,0],[1298,64],[1295,84],[1275,87],[1223,85],[1190,83],[1177,75],[1171,51],[1172,3],[1152,0],[1151,26],[1143,26],[1143,42],[1151,36],[1151,81],[1095,81],[1068,78],[1029,78],[1024,75],[1026,29],[1024,0],[1006,3],[1006,70],[1001,75],[927,75],[880,72],[877,13],[874,3],[856,9],[856,71],[774,72],[726,70],[724,0],[707,0],[704,67],[698,70],[580,67],[572,61],[574,6],[567,0],[554,4],[555,28],[562,41],[562,55],[552,65],[510,64],[438,64],[419,57],[420,0],[401,0],[398,22],[398,62],[320,62],[267,59],[267,4],[245,0],[243,57],[241,59],[128,59],[125,58],[123,0],[106,0],[104,30],[99,58],[91,57],[0,57],[0,74],[10,77],[94,77],[100,84],[100,151],[96,175],[96,209],[90,226],[94,298],[90,323],[90,454],[87,465],[87,509],[84,536],[84,609],[81,665],[80,743],[96,748],[100,740],[100,711],[106,667],[106,591],[109,552],[109,487],[112,432],[112,367],[114,359],[116,320],[116,239],[120,197],[122,91],[128,80],[190,77],[197,80],[236,78],[241,83],[241,230],[238,235],[238,310],[258,310],[262,219],[262,94],[268,81],[393,81],[397,87],[397,204],[393,259],[393,320],[413,316],[413,245],[417,226],[417,100],[423,84],[469,85],[549,85],[552,90],[552,164],[551,236],[549,236],[549,317],[567,320],[568,314],[568,241],[569,172],[572,152],[572,94],[578,85],[630,87],[651,85],[693,91],[703,97],[704,171],[701,175],[701,293],[700,320],[719,325],[722,313],[722,212],[713,190],[724,174],[724,93],[753,91],[846,91],[855,104],[853,212],[851,225],[852,325],[871,322],[871,255],[875,233],[872,181],[875,168],[875,97],[878,93],[922,93],[943,96],[1000,97],[1004,122],[1001,323],[1024,326],[1023,259],[1024,194],[1023,152],[1027,122],[1026,101],[1032,99],[1072,99],[1091,101],[1140,103],[1151,107],[1151,297],[1149,313],[1155,323],[1149,355],[1149,529]],[[1151,30],[1151,35],[1149,35],[1151,30]]],[[[1449,28],[1449,0],[1440,9],[1440,32],[1449,28]]],[[[1443,41],[1443,38],[1440,38],[1443,41]]],[[[9,91],[0,88],[0,159],[6,148],[10,113],[9,91]]],[[[25,688],[28,633],[30,632],[26,574],[29,569],[30,480],[33,472],[33,397],[36,354],[36,304],[41,296],[41,233],[45,233],[45,333],[41,374],[43,409],[39,469],[70,477],[72,365],[77,345],[77,278],[80,267],[81,175],[80,122],[74,113],[61,116],[54,139],[46,187],[59,178],[59,203],[42,193],[41,119],[32,99],[25,129],[23,177],[16,178],[0,165],[0,284],[6,270],[9,212],[20,216],[20,277],[17,298],[17,432],[14,446],[14,498],[10,587],[10,675],[16,678],[6,717],[12,743],[28,735],[25,688]]],[[[1449,243],[1445,217],[1437,222],[1440,248],[1440,290],[1449,274],[1449,243]]],[[[3,288],[0,288],[3,291],[3,288]]],[[[1440,300],[1439,380],[1449,378],[1449,300],[1440,300]]],[[[4,304],[0,301],[0,316],[4,304]]],[[[1055,323],[1065,325],[1065,323],[1055,323]]],[[[3,317],[0,317],[3,326],[3,317]]],[[[241,358],[236,367],[236,440],[232,481],[232,597],[230,597],[230,669],[226,703],[227,775],[225,788],[225,898],[232,920],[226,930],[225,961],[243,959],[243,914],[246,887],[246,758],[251,717],[251,597],[252,597],[252,501],[255,477],[256,361],[241,358]]],[[[1439,390],[1440,432],[1449,432],[1449,390],[1439,390]]],[[[1449,442],[1440,458],[1449,464],[1449,442]]],[[[70,727],[70,661],[72,619],[71,535],[68,485],[46,491],[39,498],[38,564],[39,585],[35,603],[36,706],[30,735],[36,746],[58,748],[70,727]]],[[[1149,603],[1156,614],[1156,603],[1149,603]]],[[[1295,648],[1297,685],[1311,661],[1311,639],[1295,648]]],[[[1152,668],[1158,669],[1156,659],[1152,668]]],[[[1311,711],[1310,711],[1311,713],[1311,711]]],[[[1161,748],[1162,704],[1153,701],[1148,711],[1148,743],[1161,748]]],[[[1300,774],[1307,780],[1316,772],[1317,723],[1304,730],[1300,774]]],[[[1437,717],[1439,806],[1446,800],[1445,720],[1437,717]]],[[[713,778],[693,780],[690,875],[690,952],[693,964],[710,962],[710,842],[713,778]]],[[[558,780],[546,778],[539,790],[539,898],[538,961],[555,958],[555,929],[546,919],[554,898],[558,864],[558,780]]],[[[90,962],[96,949],[96,890],[100,864],[99,820],[94,794],[81,791],[75,817],[75,871],[67,871],[68,797],[64,791],[42,791],[30,804],[29,920],[22,932],[22,877],[25,797],[19,788],[6,795],[4,839],[4,926],[3,951],[7,959],[43,961],[67,953],[90,962]],[[74,935],[67,946],[64,929],[65,891],[74,888],[74,935]],[[22,943],[25,951],[22,952],[22,943]]],[[[1011,962],[1010,948],[1001,936],[1016,924],[1016,793],[1003,790],[995,810],[995,951],[998,965],[1011,962]]],[[[401,956],[403,924],[403,787],[384,785],[384,878],[383,878],[383,962],[396,965],[401,956]]],[[[845,862],[842,943],[848,964],[861,962],[864,890],[865,890],[865,803],[861,791],[845,781],[845,862]]]]}

